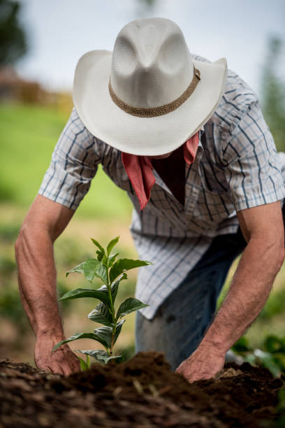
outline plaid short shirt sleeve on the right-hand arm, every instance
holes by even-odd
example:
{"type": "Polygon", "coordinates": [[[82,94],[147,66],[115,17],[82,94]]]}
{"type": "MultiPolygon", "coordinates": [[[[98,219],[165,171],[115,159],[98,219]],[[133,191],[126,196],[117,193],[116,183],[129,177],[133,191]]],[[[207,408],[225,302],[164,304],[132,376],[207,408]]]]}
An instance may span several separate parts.
{"type": "Polygon", "coordinates": [[[258,101],[241,115],[223,148],[235,211],[285,197],[282,165],[258,101]]]}

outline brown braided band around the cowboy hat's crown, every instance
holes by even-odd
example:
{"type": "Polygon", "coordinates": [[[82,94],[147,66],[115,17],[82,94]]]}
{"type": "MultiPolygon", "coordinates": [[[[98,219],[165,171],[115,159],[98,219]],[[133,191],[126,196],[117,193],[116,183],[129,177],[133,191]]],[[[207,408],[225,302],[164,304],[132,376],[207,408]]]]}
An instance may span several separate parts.
{"type": "Polygon", "coordinates": [[[114,90],[112,89],[111,81],[109,80],[109,93],[110,97],[112,98],[112,101],[121,108],[121,110],[124,110],[126,113],[129,113],[129,115],[132,116],[138,116],[138,117],[156,117],[156,116],[162,116],[166,115],[167,113],[170,113],[173,110],[176,110],[178,107],[180,107],[189,97],[191,94],[193,94],[194,90],[196,89],[196,86],[198,85],[200,81],[200,71],[196,69],[195,66],[193,66],[193,78],[191,80],[190,85],[187,87],[187,89],[174,101],[171,101],[168,104],[164,104],[163,106],[159,107],[151,107],[151,108],[142,108],[142,107],[134,107],[130,106],[129,104],[126,104],[122,99],[117,97],[114,90]]]}

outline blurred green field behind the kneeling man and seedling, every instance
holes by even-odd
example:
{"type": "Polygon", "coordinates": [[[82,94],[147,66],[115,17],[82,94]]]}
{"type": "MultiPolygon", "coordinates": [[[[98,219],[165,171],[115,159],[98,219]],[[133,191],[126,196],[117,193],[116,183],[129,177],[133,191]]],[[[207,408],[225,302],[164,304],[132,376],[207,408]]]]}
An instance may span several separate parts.
{"type": "MultiPolygon", "coordinates": [[[[54,145],[68,117],[54,108],[0,105],[0,358],[9,357],[17,362],[34,364],[34,334],[24,315],[17,290],[17,269],[14,243],[27,208],[41,185],[43,174],[50,163],[54,145]]],[[[136,250],[129,234],[131,202],[129,198],[98,171],[89,194],[75,213],[73,220],[55,244],[59,295],[87,284],[74,274],[65,278],[65,272],[87,257],[94,257],[90,237],[107,243],[114,236],[121,239],[117,249],[125,257],[136,257],[136,250]]],[[[236,260],[228,274],[219,304],[238,264],[236,260]]],[[[136,271],[129,275],[129,283],[122,285],[118,299],[133,295],[136,271]]],[[[124,284],[124,283],[123,283],[124,284]]],[[[265,336],[285,331],[285,264],[279,272],[268,303],[252,324],[247,337],[254,347],[259,347],[265,336]]],[[[89,299],[66,301],[62,304],[62,318],[67,336],[77,331],[92,331],[94,324],[87,314],[94,308],[89,299]]],[[[129,315],[118,341],[127,356],[132,355],[134,339],[134,314],[129,315]]],[[[71,348],[95,348],[93,341],[71,343],[71,348]]]]}

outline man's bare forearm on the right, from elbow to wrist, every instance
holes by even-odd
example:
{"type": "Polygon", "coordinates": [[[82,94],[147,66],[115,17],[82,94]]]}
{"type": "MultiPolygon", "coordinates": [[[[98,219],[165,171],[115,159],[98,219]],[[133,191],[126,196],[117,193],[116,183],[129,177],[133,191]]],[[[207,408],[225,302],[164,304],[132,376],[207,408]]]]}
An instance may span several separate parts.
{"type": "Polygon", "coordinates": [[[283,261],[284,250],[249,241],[224,304],[202,343],[211,343],[223,352],[231,348],[265,305],[283,261]]]}

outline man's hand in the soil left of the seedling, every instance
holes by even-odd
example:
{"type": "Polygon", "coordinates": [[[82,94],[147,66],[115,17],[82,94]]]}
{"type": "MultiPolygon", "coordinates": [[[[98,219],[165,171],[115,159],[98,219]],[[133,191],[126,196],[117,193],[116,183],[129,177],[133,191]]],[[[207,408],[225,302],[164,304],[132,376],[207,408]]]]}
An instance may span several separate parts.
{"type": "Polygon", "coordinates": [[[71,348],[65,343],[52,352],[64,337],[50,336],[49,334],[38,334],[34,353],[35,364],[38,369],[50,370],[52,373],[64,374],[65,376],[80,371],[80,362],[71,348]]]}

